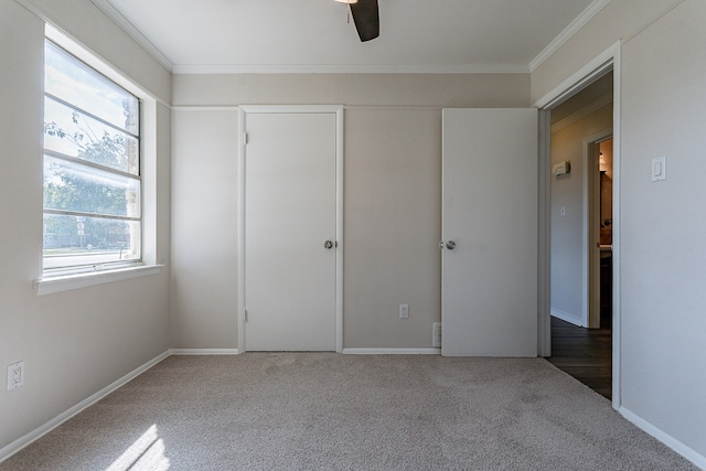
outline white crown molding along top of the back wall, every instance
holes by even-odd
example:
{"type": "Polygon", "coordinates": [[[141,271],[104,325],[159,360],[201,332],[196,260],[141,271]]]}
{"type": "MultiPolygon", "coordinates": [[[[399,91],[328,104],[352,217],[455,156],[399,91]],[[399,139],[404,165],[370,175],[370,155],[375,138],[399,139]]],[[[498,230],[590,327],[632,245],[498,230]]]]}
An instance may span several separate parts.
{"type": "Polygon", "coordinates": [[[180,65],[173,74],[528,74],[524,64],[367,65],[367,64],[233,64],[180,65]]]}

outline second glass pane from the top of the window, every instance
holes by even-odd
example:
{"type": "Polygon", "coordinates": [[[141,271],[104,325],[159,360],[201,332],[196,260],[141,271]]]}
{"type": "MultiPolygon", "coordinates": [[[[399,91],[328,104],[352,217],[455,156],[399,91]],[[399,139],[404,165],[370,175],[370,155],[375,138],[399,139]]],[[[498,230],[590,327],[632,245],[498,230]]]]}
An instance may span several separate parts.
{"type": "Polygon", "coordinates": [[[138,175],[138,140],[44,98],[44,148],[138,175]]]}

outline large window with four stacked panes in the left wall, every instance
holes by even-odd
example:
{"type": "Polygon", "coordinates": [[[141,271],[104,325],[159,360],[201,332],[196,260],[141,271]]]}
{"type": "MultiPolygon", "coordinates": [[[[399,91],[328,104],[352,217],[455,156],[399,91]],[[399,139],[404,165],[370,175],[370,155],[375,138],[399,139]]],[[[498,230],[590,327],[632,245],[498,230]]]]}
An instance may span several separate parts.
{"type": "Polygon", "coordinates": [[[44,276],[140,263],[139,99],[50,40],[44,77],[44,276]]]}

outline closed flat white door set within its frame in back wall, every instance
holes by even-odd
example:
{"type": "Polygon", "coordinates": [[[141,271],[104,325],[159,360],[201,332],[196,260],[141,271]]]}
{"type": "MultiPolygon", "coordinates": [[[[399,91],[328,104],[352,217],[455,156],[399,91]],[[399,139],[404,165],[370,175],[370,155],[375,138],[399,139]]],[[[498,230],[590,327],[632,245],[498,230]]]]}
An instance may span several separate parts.
{"type": "Polygon", "coordinates": [[[336,114],[245,115],[248,351],[336,347],[336,114]]]}

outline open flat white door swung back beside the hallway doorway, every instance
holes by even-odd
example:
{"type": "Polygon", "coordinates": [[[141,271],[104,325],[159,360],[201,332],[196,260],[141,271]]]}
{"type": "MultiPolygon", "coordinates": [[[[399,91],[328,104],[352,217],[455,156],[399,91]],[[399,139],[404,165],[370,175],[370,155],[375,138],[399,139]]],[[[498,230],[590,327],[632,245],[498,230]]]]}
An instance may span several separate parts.
{"type": "Polygon", "coordinates": [[[445,109],[442,179],[442,354],[536,356],[536,109],[445,109]]]}

